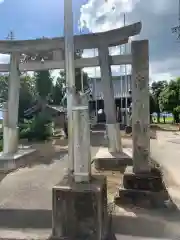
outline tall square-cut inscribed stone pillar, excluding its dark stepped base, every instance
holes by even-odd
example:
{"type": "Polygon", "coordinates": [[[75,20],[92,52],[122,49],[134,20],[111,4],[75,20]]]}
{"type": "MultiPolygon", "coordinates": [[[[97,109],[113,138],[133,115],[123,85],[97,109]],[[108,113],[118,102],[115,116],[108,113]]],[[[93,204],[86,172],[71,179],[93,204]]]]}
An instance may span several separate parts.
{"type": "Polygon", "coordinates": [[[132,42],[133,171],[150,171],[148,40],[132,42]]]}

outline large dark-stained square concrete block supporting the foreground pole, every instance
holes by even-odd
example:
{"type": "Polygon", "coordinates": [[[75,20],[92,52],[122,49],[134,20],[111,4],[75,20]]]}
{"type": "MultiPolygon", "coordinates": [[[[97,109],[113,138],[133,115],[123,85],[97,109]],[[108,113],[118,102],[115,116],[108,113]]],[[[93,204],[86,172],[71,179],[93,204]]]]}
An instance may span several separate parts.
{"type": "Polygon", "coordinates": [[[106,239],[108,226],[106,177],[89,183],[66,177],[53,188],[53,238],[106,239]]]}

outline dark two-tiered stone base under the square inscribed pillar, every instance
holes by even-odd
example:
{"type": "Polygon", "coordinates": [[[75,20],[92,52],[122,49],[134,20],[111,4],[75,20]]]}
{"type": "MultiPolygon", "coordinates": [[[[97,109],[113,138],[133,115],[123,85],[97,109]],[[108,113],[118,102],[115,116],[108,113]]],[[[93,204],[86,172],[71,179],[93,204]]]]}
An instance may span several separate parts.
{"type": "Polygon", "coordinates": [[[127,167],[123,176],[123,188],[119,189],[116,203],[135,204],[142,207],[163,207],[168,194],[162,181],[159,169],[147,173],[134,173],[127,167]]]}

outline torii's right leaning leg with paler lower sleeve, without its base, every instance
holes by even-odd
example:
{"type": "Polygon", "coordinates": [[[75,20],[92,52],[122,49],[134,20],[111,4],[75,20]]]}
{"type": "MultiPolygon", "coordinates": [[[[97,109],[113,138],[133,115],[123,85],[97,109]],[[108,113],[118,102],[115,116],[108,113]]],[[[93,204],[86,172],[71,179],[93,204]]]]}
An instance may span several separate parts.
{"type": "Polygon", "coordinates": [[[109,150],[111,152],[121,152],[121,137],[119,124],[116,118],[114,101],[114,90],[111,76],[111,66],[109,63],[108,46],[101,41],[99,46],[99,61],[101,68],[101,83],[104,96],[104,108],[106,113],[106,127],[109,140],[109,150]]]}

